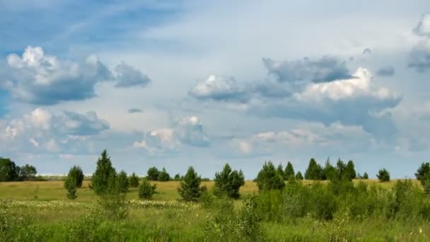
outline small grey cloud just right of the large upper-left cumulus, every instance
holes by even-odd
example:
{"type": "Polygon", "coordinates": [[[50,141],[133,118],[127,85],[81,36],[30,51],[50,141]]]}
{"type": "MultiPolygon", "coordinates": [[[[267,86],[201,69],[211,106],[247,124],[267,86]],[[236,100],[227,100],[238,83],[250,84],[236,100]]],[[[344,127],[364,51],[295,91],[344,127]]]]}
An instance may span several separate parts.
{"type": "Polygon", "coordinates": [[[124,62],[115,67],[115,72],[117,74],[115,86],[117,87],[146,86],[151,81],[141,71],[124,62]]]}

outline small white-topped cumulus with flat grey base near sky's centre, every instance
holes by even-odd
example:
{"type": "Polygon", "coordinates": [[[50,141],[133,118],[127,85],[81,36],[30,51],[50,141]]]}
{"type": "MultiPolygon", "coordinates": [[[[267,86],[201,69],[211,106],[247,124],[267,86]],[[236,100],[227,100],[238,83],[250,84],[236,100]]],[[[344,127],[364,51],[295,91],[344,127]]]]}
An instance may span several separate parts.
{"type": "Polygon", "coordinates": [[[240,88],[236,80],[230,76],[210,75],[206,80],[198,81],[189,92],[190,96],[199,100],[223,100],[245,102],[248,93],[240,88]]]}

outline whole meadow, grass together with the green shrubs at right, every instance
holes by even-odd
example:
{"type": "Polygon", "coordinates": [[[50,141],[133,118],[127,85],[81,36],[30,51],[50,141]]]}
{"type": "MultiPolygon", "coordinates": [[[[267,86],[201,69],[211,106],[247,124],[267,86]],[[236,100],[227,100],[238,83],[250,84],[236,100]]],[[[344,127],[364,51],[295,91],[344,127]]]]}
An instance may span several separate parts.
{"type": "MultiPolygon", "coordinates": [[[[366,183],[366,190],[375,192],[357,197],[330,195],[325,200],[321,195],[327,192],[326,181],[316,183],[304,180],[298,185],[287,184],[282,191],[262,193],[258,192],[255,182],[246,181],[240,188],[239,200],[210,196],[198,203],[178,200],[179,182],[153,182],[157,184],[158,193],[152,200],[139,200],[136,188],[127,192],[127,217],[124,219],[105,218],[98,202],[100,198],[88,187],[86,180],[73,201],[66,199],[63,182],[58,180],[0,183],[0,240],[430,240],[430,207],[425,207],[429,204],[429,198],[424,197],[417,180],[405,182],[406,185],[401,182],[403,185],[400,186],[396,185],[395,180],[388,183],[377,180],[361,182],[354,180],[354,187],[358,189],[366,183]],[[399,193],[397,187],[405,191],[399,193]],[[301,191],[305,188],[310,189],[307,197],[296,196],[304,194],[301,191]],[[397,207],[394,206],[395,215],[390,214],[394,211],[391,208],[399,194],[405,195],[407,203],[398,203],[397,207]],[[306,200],[312,200],[312,203],[317,201],[313,200],[313,196],[319,196],[318,201],[328,203],[321,203],[316,208],[308,207],[303,214],[297,214],[305,209],[302,204],[308,204],[306,200]],[[253,203],[255,197],[257,207],[253,203]],[[330,219],[316,217],[320,210],[325,212],[331,206],[330,200],[338,201],[333,216],[330,219]],[[372,209],[372,214],[362,212],[364,207],[366,211],[372,209]]],[[[214,182],[202,182],[202,185],[210,191],[214,182]]],[[[115,209],[115,204],[111,206],[108,210],[115,209]]]]}

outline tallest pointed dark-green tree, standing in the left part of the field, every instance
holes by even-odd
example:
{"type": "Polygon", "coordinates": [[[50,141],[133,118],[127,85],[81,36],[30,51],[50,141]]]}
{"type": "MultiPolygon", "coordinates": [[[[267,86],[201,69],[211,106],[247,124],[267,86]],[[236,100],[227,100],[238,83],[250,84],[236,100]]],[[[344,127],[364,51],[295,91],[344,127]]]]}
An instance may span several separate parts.
{"type": "Polygon", "coordinates": [[[95,194],[103,195],[115,187],[116,171],[112,167],[112,161],[108,151],[104,150],[97,161],[97,168],[91,177],[91,187],[95,194]]]}

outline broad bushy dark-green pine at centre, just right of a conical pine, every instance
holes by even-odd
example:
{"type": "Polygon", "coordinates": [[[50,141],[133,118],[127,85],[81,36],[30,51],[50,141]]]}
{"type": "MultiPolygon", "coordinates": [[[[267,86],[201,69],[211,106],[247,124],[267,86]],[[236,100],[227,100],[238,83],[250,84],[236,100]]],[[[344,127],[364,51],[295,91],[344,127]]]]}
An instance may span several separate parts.
{"type": "Polygon", "coordinates": [[[240,197],[239,189],[245,185],[245,176],[242,171],[232,171],[230,165],[226,163],[223,171],[215,173],[214,195],[217,197],[240,197]]]}

